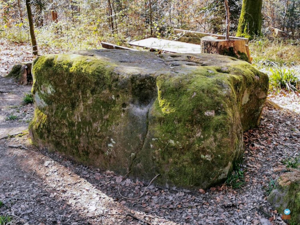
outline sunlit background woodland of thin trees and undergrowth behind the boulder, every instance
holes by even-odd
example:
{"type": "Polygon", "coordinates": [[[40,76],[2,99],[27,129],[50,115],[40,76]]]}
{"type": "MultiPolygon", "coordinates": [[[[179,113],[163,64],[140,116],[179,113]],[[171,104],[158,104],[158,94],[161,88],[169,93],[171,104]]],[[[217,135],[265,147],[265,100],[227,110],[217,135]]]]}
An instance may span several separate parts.
{"type": "MultiPolygon", "coordinates": [[[[253,64],[270,74],[292,73],[297,86],[300,0],[262,2],[262,36],[249,45],[253,64]]],[[[126,46],[147,37],[174,39],[173,28],[214,34],[226,29],[223,0],[32,0],[31,6],[39,54],[97,49],[101,41],[126,46]]],[[[230,0],[229,6],[234,36],[242,0],[230,0]]],[[[25,1],[0,0],[0,9],[0,38],[29,44],[25,1]]]]}

